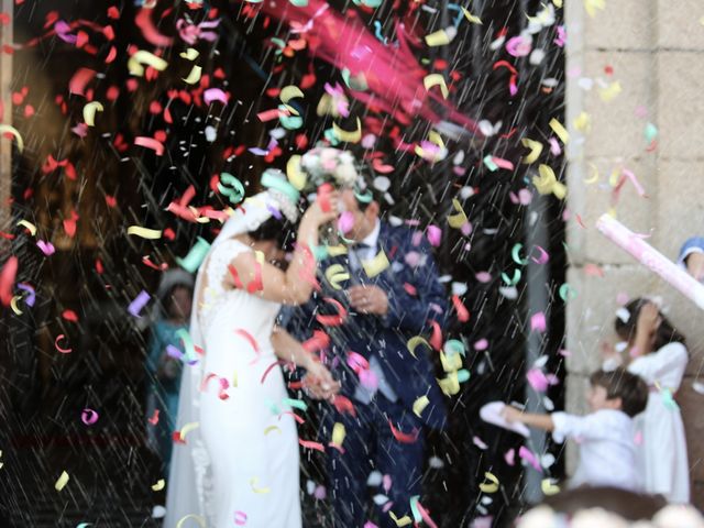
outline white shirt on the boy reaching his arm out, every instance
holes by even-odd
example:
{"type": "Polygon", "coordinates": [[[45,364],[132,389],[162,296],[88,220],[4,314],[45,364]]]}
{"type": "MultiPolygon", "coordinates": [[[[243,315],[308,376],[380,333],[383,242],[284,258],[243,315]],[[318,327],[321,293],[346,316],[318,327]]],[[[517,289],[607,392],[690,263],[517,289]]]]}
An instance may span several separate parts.
{"type": "Polygon", "coordinates": [[[571,438],[580,446],[580,463],[570,482],[614,486],[632,492],[642,490],[636,463],[634,420],[626,413],[600,409],[586,416],[553,413],[552,438],[563,442],[571,438]]]}

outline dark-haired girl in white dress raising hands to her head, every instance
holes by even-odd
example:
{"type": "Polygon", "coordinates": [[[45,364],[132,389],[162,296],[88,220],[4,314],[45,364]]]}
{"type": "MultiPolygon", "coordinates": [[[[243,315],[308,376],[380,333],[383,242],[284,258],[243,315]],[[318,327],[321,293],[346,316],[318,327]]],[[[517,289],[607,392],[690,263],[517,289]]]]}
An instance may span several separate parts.
{"type": "Polygon", "coordinates": [[[674,394],[680,388],[689,354],[679,333],[658,306],[645,298],[616,312],[615,329],[625,342],[617,352],[605,348],[604,367],[624,365],[649,386],[646,411],[636,419],[641,436],[638,465],[645,491],[671,503],[690,499],[690,472],[684,425],[674,394]]]}

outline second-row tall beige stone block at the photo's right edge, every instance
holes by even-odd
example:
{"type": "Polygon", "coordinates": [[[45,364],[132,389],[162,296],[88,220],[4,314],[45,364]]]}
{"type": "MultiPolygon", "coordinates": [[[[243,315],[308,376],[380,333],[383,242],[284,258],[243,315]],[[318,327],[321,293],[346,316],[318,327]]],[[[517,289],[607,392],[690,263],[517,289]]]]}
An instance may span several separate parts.
{"type": "MultiPolygon", "coordinates": [[[[704,28],[700,31],[704,33],[704,28]]],[[[661,51],[657,55],[660,156],[701,158],[704,53],[661,51]]]]}

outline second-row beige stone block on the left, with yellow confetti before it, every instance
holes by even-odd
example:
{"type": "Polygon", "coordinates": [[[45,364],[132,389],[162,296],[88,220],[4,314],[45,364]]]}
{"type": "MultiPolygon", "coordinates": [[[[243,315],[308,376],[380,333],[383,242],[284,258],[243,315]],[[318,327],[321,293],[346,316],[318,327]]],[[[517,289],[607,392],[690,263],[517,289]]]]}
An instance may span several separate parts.
{"type": "MultiPolygon", "coordinates": [[[[636,112],[654,103],[656,67],[652,53],[585,52],[583,75],[594,79],[594,86],[584,96],[582,109],[590,114],[592,123],[591,132],[584,134],[587,157],[629,160],[645,155],[644,131],[648,117],[639,117],[636,112]],[[606,67],[613,68],[613,74],[607,75],[606,67]],[[606,84],[618,81],[622,91],[613,99],[604,100],[600,94],[600,78],[606,84]]],[[[570,127],[573,130],[573,123],[570,127]]],[[[579,141],[576,132],[575,141],[579,141]]]]}

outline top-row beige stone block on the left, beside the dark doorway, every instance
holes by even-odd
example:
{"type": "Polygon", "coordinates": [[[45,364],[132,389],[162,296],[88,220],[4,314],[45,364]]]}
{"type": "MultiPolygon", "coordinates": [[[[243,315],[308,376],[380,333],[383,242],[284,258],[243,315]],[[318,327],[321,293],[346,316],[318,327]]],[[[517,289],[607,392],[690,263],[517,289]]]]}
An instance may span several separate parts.
{"type": "MultiPolygon", "coordinates": [[[[570,3],[570,2],[565,2],[570,3]]],[[[582,2],[572,2],[584,9],[582,2]]],[[[654,0],[616,0],[606,2],[594,18],[582,15],[587,50],[649,50],[653,46],[654,0]]],[[[568,20],[568,22],[570,22],[568,20]]],[[[568,31],[569,31],[568,26],[568,31]]]]}

